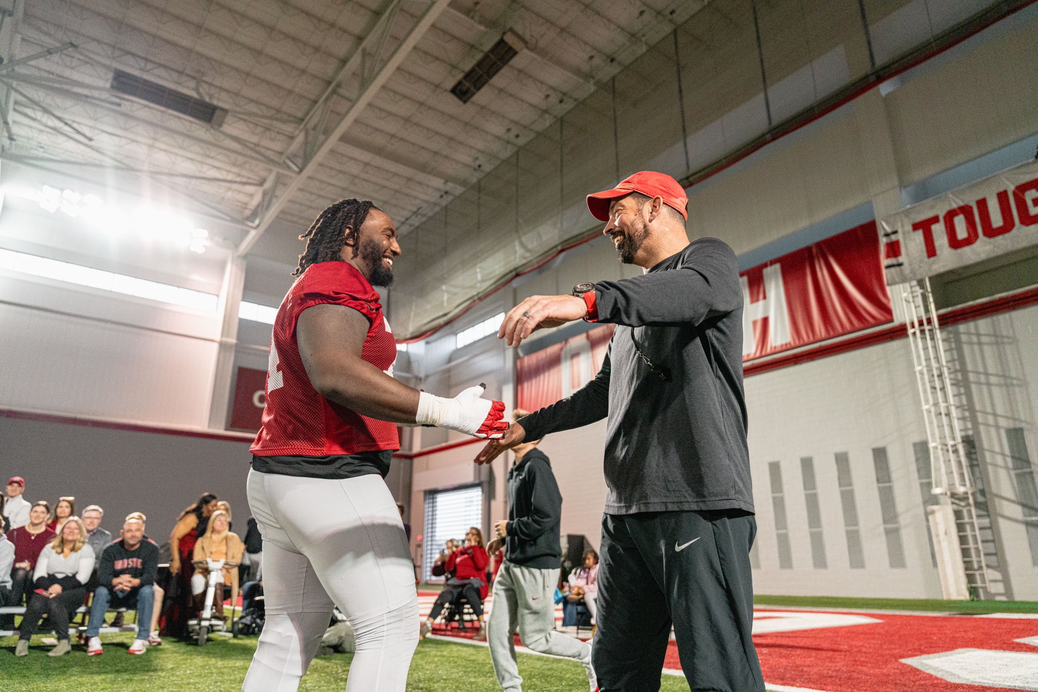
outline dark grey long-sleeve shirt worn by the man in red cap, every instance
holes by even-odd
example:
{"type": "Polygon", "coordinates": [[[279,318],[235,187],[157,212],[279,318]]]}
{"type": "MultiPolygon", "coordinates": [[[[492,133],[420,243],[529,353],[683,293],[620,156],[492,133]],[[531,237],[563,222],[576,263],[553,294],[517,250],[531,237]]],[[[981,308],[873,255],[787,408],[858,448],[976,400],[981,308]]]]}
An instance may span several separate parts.
{"type": "Polygon", "coordinates": [[[596,283],[595,294],[599,322],[618,325],[602,369],[522,418],[526,440],[608,416],[606,514],[753,511],[732,248],[704,238],[641,276],[596,283]]]}

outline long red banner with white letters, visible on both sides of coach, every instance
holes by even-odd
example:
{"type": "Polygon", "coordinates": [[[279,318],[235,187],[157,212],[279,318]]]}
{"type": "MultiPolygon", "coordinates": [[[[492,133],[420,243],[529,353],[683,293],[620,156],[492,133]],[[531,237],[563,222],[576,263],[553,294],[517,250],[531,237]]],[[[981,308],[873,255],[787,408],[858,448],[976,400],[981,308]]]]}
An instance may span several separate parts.
{"type": "MultiPolygon", "coordinates": [[[[748,269],[739,278],[743,361],[894,320],[875,221],[748,269]]],[[[518,407],[536,411],[582,387],[602,366],[612,330],[603,325],[520,358],[518,407]]]]}

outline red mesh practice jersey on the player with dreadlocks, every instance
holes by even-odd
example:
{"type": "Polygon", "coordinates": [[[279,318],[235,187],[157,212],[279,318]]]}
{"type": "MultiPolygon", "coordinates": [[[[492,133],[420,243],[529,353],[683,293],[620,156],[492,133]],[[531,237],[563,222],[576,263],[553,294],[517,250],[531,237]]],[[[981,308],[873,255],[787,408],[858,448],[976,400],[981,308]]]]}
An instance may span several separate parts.
{"type": "Polygon", "coordinates": [[[392,377],[397,344],[380,297],[347,261],[310,265],[281,302],[270,340],[267,406],[252,443],[256,456],[324,456],[400,449],[397,424],[362,416],[329,402],[310,384],[296,342],[296,323],[308,307],[345,305],[371,322],[361,358],[392,377]]]}

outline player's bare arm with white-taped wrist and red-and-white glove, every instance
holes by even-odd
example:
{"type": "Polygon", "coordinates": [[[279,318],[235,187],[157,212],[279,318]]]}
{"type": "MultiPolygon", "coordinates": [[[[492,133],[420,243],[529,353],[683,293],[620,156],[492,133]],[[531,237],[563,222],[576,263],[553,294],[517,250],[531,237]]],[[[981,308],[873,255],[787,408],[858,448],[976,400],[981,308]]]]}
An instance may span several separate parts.
{"type": "Polygon", "coordinates": [[[498,438],[508,427],[504,404],[482,398],[469,387],[455,398],[419,392],[361,358],[371,326],[344,305],[306,308],[296,324],[296,340],[310,384],[319,394],[370,418],[404,425],[447,427],[466,435],[498,438]]]}

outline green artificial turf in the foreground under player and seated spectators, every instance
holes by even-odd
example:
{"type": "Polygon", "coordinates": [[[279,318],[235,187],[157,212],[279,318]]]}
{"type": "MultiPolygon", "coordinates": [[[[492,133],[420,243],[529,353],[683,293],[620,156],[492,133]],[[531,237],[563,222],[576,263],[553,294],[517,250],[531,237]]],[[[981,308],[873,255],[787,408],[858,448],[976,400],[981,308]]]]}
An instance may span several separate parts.
{"type": "MultiPolygon", "coordinates": [[[[102,635],[105,653],[87,657],[82,646],[48,658],[51,646],[34,637],[29,655],[15,658],[15,637],[0,638],[0,692],[234,692],[241,689],[255,649],[255,637],[218,638],[202,647],[173,640],[129,656],[132,634],[102,635]]],[[[340,692],[346,687],[350,654],[315,659],[299,689],[340,692]]],[[[574,661],[519,654],[524,692],[574,692],[588,689],[583,668],[574,661]]],[[[483,646],[427,639],[418,644],[407,689],[411,692],[499,692],[483,646]]],[[[688,690],[680,677],[663,675],[664,692],[688,690]]]]}

